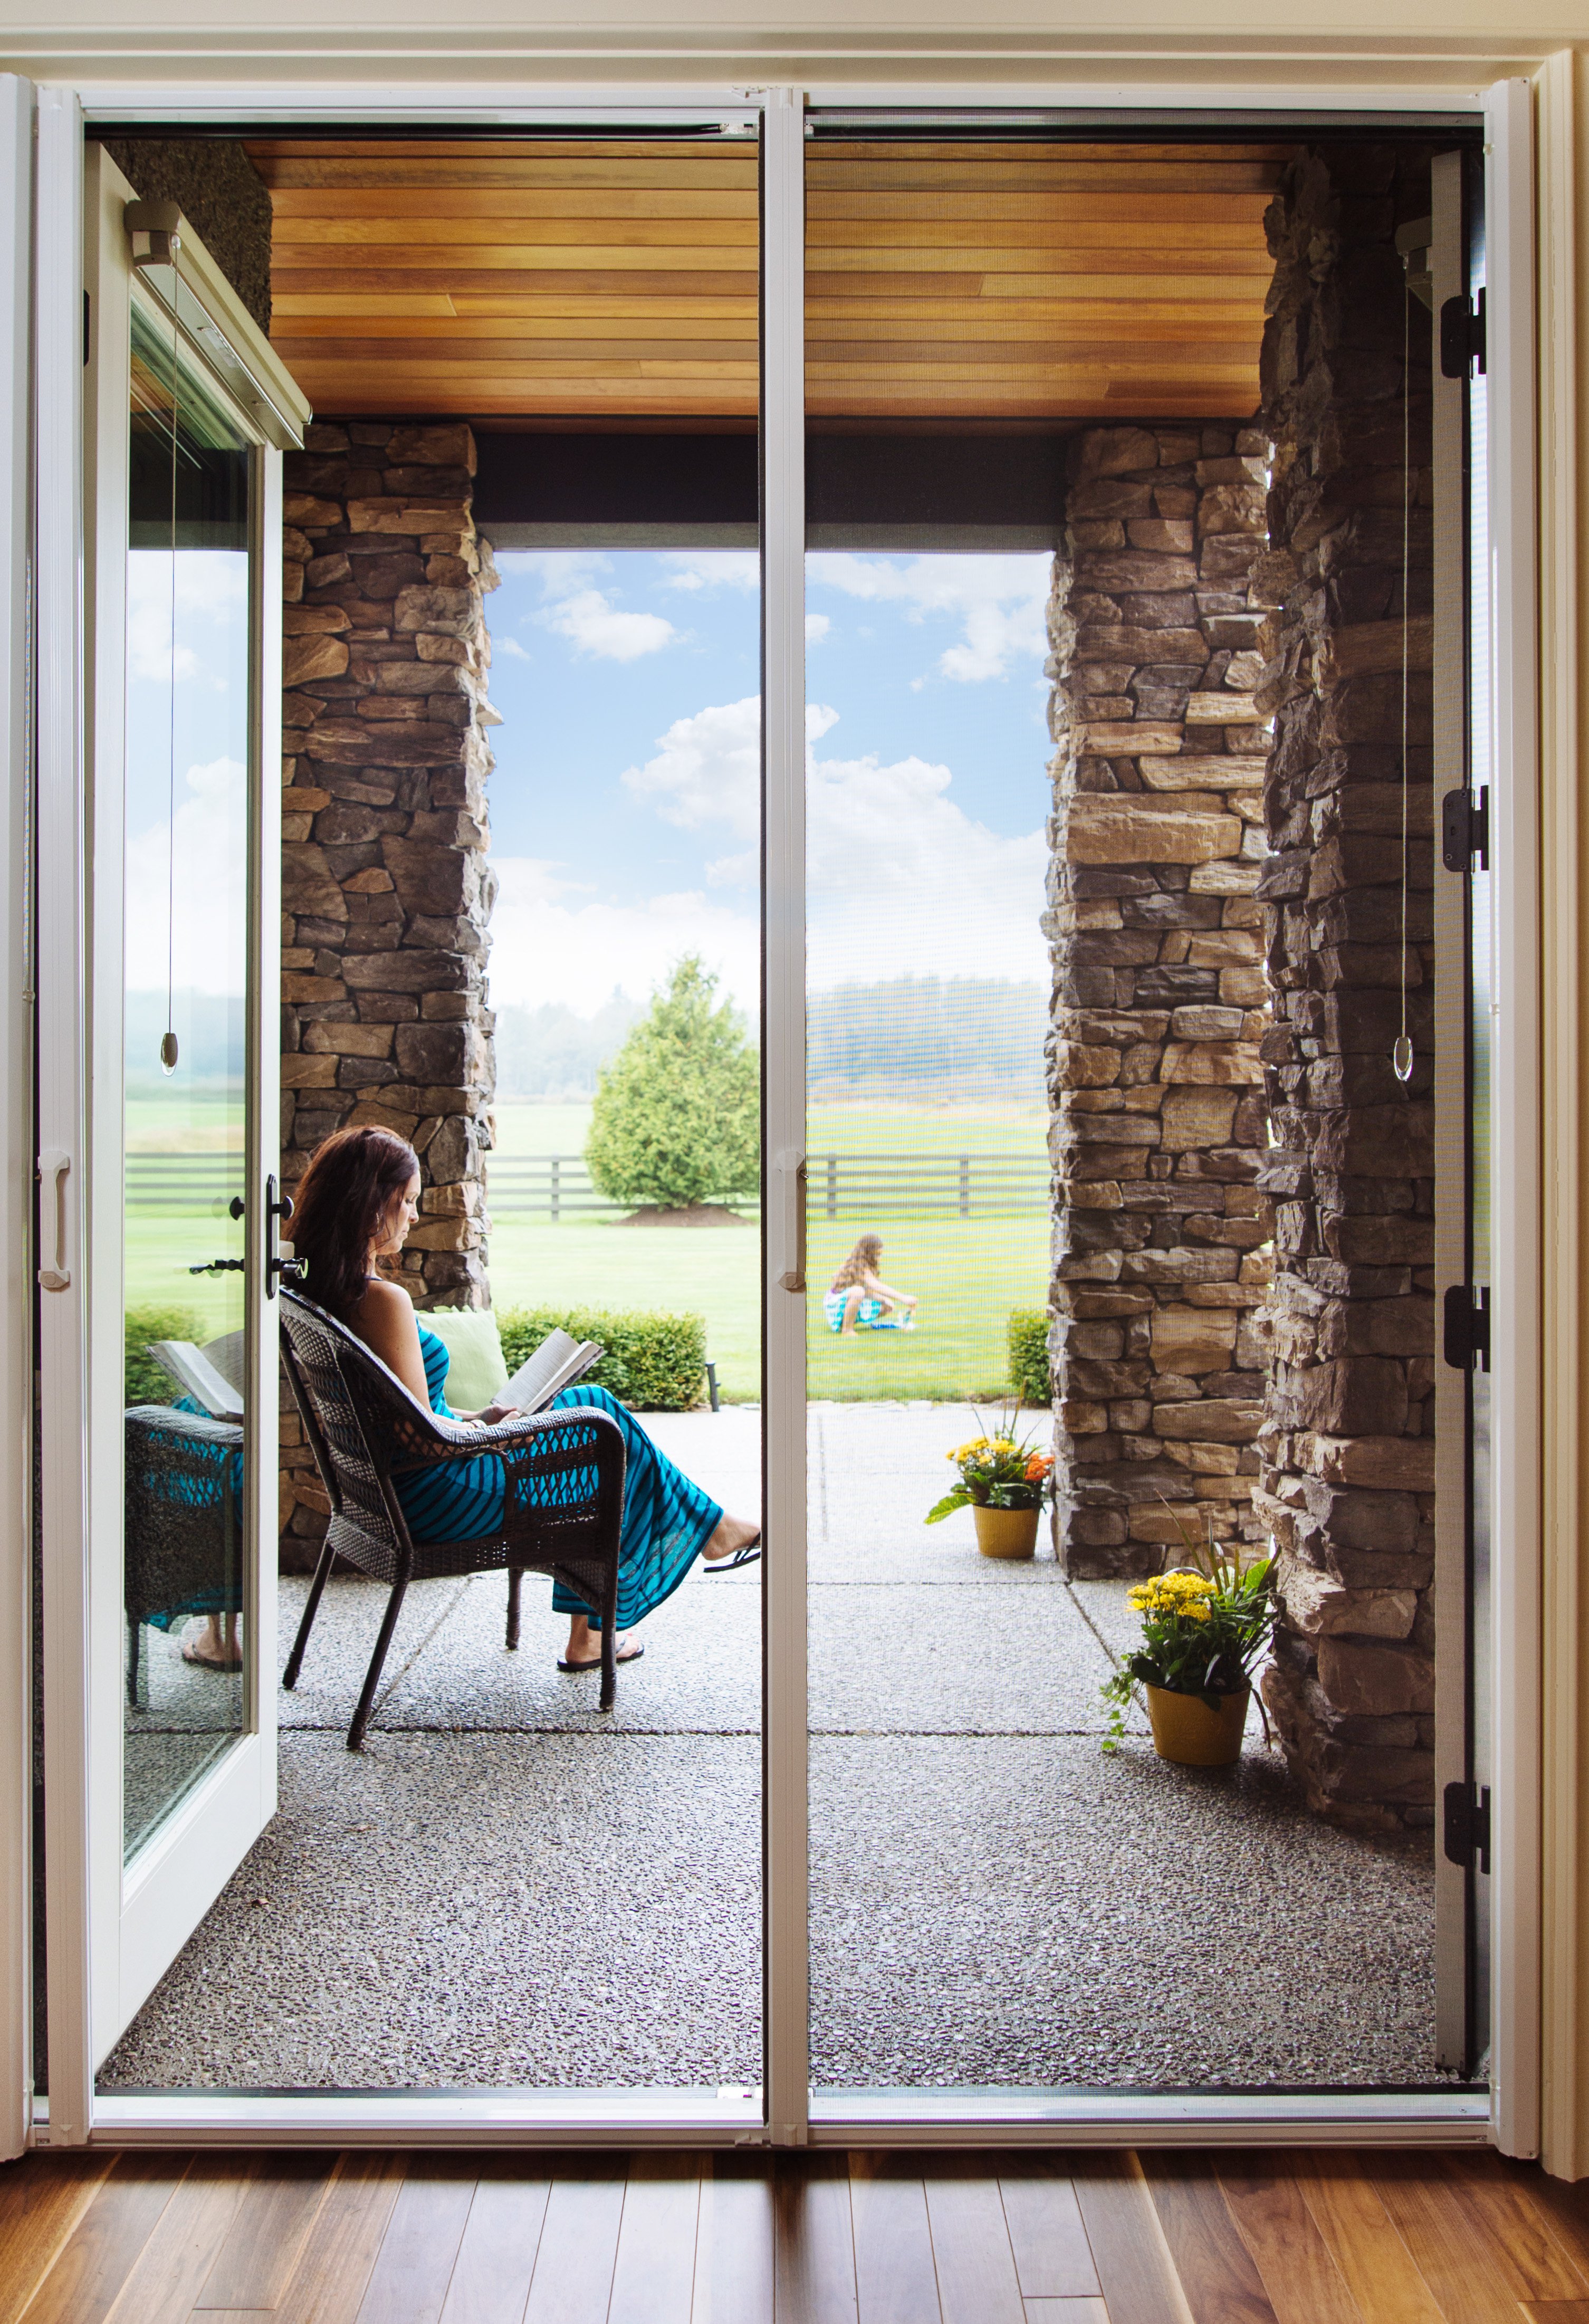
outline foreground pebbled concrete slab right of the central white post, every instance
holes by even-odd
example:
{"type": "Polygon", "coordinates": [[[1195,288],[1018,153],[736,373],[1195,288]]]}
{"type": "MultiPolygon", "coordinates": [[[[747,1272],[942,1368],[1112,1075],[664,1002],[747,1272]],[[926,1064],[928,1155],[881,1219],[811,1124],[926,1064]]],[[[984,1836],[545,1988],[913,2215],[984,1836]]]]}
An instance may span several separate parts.
{"type": "Polygon", "coordinates": [[[813,1738],[820,2087],[1433,2082],[1433,1866],[1280,1762],[813,1738]]]}

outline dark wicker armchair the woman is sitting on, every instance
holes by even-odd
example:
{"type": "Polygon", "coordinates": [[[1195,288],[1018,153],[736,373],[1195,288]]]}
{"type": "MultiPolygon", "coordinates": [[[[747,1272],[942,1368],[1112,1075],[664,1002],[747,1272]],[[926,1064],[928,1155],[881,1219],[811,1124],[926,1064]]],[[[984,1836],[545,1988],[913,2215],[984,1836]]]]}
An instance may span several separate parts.
{"type": "Polygon", "coordinates": [[[602,1710],[613,1708],[618,1671],[618,1536],[623,1529],[623,1429],[590,1406],[467,1427],[441,1420],[409,1394],[362,1339],[300,1292],[281,1290],[281,1357],[332,1518],[309,1585],[304,1618],[281,1673],[297,1685],[304,1645],[332,1562],[390,1583],[365,1692],[348,1727],[348,1750],[365,1741],[402,1599],[411,1580],[492,1573],[506,1566],[506,1643],[518,1645],[518,1583],[551,1573],[602,1618],[602,1710]],[[506,1471],[502,1532],[479,1541],[414,1541],[393,1476],[495,1452],[506,1471]]]}

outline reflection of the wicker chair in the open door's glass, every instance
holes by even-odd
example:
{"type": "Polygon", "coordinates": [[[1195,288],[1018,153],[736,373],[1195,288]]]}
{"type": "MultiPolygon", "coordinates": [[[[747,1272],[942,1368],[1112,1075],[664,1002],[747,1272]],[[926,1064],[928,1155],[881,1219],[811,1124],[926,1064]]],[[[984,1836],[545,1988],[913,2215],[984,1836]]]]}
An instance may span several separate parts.
{"type": "Polygon", "coordinates": [[[235,1420],[132,1404],[128,1429],[128,1703],[139,1703],[142,1627],[153,1615],[242,1611],[242,1508],[232,1490],[235,1420]]]}

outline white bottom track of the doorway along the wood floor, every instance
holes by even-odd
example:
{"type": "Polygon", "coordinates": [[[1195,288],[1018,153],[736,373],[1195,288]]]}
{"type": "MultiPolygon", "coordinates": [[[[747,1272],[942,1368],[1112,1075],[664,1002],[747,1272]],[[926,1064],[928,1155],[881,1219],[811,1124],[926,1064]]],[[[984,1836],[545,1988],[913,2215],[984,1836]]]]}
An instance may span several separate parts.
{"type": "MultiPolygon", "coordinates": [[[[46,2108],[37,2110],[46,2136],[46,2108]]],[[[813,2147],[1482,2147],[1484,2089],[825,2089],[813,2147]]],[[[95,2147],[760,2147],[760,2089],[121,2092],[95,2147]]]]}

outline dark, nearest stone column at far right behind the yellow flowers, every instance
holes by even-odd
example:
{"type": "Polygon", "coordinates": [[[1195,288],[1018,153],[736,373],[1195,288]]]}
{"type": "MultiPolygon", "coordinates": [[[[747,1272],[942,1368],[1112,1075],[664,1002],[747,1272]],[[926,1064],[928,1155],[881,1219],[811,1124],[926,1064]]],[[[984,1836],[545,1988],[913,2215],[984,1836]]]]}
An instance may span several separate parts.
{"type": "Polygon", "coordinates": [[[1257,1508],[1285,1620],[1264,1692],[1308,1801],[1433,1817],[1433,837],[1429,314],[1394,249],[1429,160],[1303,153],[1268,214],[1264,416],[1282,597],[1257,690],[1275,1027],[1275,1355],[1257,1508]],[[1408,1027],[1401,1023],[1403,397],[1412,435],[1408,1027]]]}

